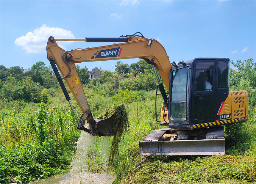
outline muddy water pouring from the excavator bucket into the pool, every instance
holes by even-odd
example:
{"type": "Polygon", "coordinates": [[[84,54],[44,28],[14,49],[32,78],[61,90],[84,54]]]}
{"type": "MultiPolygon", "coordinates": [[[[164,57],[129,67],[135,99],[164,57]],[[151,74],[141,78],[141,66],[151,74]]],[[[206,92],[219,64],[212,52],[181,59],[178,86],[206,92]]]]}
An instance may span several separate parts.
{"type": "Polygon", "coordinates": [[[61,181],[60,184],[112,183],[115,178],[106,173],[109,140],[110,137],[95,138],[91,134],[81,131],[81,136],[77,142],[76,159],[71,163],[73,166],[70,171],[71,177],[61,181]],[[98,140],[95,141],[95,139],[98,140]],[[89,172],[99,169],[102,169],[101,173],[89,172]]]}

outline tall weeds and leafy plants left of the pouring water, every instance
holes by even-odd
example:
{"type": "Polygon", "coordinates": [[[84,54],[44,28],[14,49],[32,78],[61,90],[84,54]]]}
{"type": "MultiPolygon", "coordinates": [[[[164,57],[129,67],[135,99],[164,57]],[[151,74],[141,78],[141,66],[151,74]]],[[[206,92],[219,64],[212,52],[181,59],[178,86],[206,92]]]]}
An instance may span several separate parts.
{"type": "Polygon", "coordinates": [[[4,103],[12,108],[0,111],[0,183],[67,172],[80,136],[71,109],[58,103],[4,103]]]}

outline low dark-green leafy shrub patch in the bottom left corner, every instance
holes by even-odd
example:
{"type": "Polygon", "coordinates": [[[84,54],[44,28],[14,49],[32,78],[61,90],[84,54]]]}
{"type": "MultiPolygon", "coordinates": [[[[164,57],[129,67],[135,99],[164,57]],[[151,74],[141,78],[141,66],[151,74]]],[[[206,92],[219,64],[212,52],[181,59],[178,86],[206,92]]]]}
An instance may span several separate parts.
{"type": "Polygon", "coordinates": [[[0,145],[0,183],[29,183],[54,175],[61,165],[60,150],[51,142],[23,144],[13,150],[0,145]]]}

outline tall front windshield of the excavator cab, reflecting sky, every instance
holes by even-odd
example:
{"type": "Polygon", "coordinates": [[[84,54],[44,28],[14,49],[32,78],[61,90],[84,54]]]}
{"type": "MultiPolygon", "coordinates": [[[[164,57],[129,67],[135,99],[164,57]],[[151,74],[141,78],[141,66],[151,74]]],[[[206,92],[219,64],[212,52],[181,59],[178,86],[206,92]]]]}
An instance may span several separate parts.
{"type": "Polygon", "coordinates": [[[186,119],[186,91],[188,67],[172,72],[171,119],[186,119]]]}

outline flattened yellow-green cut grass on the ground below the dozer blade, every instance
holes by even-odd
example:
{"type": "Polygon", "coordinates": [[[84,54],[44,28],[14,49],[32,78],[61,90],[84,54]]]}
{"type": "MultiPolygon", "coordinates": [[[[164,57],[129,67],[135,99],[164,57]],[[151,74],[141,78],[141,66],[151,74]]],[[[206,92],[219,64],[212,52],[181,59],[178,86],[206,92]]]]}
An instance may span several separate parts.
{"type": "Polygon", "coordinates": [[[147,157],[124,183],[255,183],[255,161],[255,155],[147,157]]]}

